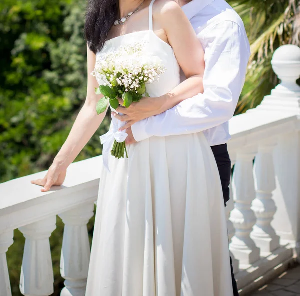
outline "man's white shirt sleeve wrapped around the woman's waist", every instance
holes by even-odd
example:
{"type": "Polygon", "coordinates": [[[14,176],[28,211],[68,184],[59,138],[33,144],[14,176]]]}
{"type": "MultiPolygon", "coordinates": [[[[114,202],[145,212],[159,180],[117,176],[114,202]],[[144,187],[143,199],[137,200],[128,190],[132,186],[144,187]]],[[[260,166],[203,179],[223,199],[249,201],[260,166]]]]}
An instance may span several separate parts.
{"type": "Polygon", "coordinates": [[[151,136],[200,132],[228,121],[234,114],[250,56],[244,28],[226,20],[204,36],[204,92],[159,115],[132,125],[136,141],[151,136]]]}

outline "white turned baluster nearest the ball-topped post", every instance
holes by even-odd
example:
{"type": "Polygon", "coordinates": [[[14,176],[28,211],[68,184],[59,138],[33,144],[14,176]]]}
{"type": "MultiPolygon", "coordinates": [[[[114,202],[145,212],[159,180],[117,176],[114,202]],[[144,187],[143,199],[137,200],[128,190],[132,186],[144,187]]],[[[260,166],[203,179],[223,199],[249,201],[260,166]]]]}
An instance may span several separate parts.
{"type": "Polygon", "coordinates": [[[272,191],[276,188],[273,147],[272,143],[259,145],[254,163],[256,198],[252,202],[252,210],[257,221],[250,236],[262,252],[272,252],[279,247],[279,236],[271,226],[277,209],[272,199],[272,191]]]}

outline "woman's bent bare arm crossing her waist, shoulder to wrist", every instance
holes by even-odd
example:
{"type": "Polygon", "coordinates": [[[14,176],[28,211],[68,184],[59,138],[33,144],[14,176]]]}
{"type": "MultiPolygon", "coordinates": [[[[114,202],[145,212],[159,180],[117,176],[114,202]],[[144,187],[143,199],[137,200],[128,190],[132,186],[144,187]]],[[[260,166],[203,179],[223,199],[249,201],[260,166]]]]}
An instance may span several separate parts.
{"type": "Polygon", "coordinates": [[[202,45],[179,4],[172,0],[159,1],[155,10],[159,9],[160,13],[154,14],[154,23],[157,15],[157,23],[163,27],[186,76],[186,80],[157,100],[159,110],[156,112],[162,113],[183,100],[203,92],[205,62],[202,45]]]}

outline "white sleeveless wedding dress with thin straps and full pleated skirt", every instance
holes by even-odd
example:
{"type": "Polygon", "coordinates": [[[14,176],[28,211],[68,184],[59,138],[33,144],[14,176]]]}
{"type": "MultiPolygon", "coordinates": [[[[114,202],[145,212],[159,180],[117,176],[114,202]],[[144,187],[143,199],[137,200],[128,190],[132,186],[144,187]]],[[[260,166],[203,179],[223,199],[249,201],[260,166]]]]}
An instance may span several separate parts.
{"type": "MultiPolygon", "coordinates": [[[[102,53],[139,40],[166,67],[147,85],[160,96],[180,83],[172,48],[152,30],[108,40],[102,53]]],[[[220,178],[202,132],[151,137],[110,155],[102,169],[86,296],[232,296],[220,178]]]]}

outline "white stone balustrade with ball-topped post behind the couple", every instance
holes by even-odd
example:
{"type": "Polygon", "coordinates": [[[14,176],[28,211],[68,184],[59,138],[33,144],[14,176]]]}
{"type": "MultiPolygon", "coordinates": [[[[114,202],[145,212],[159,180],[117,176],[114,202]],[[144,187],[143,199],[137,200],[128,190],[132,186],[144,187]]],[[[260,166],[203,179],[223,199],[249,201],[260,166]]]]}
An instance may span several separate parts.
{"type": "MultiPolygon", "coordinates": [[[[229,122],[234,165],[226,207],[230,254],[244,295],[300,260],[300,48],[273,56],[281,83],[261,105],[229,122]]],[[[63,186],[42,193],[30,184],[40,172],[0,184],[0,296],[11,296],[6,252],[13,230],[25,237],[20,291],[53,293],[49,237],[64,222],[61,296],[84,296],[90,257],[86,224],[97,198],[101,156],[73,163],[63,186]]],[[[300,277],[300,276],[299,276],[300,277]]]]}

